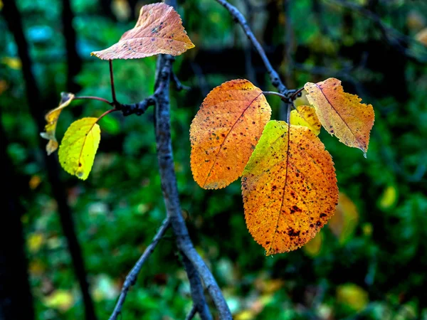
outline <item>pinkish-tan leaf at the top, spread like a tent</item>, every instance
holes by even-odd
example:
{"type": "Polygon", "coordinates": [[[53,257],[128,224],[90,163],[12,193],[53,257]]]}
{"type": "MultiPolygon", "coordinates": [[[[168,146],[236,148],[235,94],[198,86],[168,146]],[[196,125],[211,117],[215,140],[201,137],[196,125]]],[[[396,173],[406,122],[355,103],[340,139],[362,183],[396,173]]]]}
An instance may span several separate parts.
{"type": "Polygon", "coordinates": [[[159,53],[180,55],[194,48],[179,14],[167,4],[142,6],[134,28],[110,48],[91,55],[104,60],[145,58],[159,53]]]}

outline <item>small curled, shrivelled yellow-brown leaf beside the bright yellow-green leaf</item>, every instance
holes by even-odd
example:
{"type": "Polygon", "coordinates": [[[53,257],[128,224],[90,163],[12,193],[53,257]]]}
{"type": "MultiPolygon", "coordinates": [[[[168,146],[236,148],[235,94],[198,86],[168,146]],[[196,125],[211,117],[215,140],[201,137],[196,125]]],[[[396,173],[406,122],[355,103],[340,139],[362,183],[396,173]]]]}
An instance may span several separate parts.
{"type": "Polygon", "coordinates": [[[56,124],[58,123],[60,112],[63,110],[63,108],[70,105],[73,99],[73,93],[60,92],[59,106],[56,109],[49,111],[45,116],[47,122],[45,126],[45,132],[41,132],[40,135],[42,138],[49,140],[48,144],[46,145],[46,152],[48,155],[52,154],[56,149],[58,149],[58,141],[55,137],[56,124]]]}

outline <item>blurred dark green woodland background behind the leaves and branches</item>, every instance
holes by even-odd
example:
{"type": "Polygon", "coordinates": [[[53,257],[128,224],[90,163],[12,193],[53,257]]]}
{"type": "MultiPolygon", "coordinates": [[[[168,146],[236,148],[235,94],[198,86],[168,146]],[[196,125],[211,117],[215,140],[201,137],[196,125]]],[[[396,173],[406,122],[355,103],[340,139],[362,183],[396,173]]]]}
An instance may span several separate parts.
{"type": "MultiPolygon", "coordinates": [[[[100,149],[84,182],[58,169],[57,154],[46,162],[38,123],[56,107],[61,91],[110,100],[108,63],[90,52],[115,43],[150,1],[71,0],[70,11],[68,1],[17,0],[38,85],[32,90],[40,94],[36,105],[27,97],[19,45],[5,19],[6,2],[12,0],[2,1],[1,144],[10,161],[3,185],[16,205],[7,214],[21,222],[14,234],[24,238],[35,319],[84,319],[58,215],[66,211],[64,201],[58,203],[64,192],[97,317],[107,319],[127,272],[165,216],[153,110],[140,117],[109,114],[102,119],[100,149]],[[74,15],[75,41],[64,11],[74,15]]],[[[274,87],[240,26],[216,1],[178,4],[196,45],[174,63],[176,75],[191,90],[171,91],[181,203],[194,245],[235,318],[427,319],[426,1],[233,1],[288,87],[339,78],[345,91],[374,105],[376,115],[367,159],[322,131],[342,193],[337,215],[302,250],[274,257],[265,257],[246,229],[239,181],[206,191],[196,185],[189,166],[189,125],[213,87],[237,78],[263,90],[274,87]],[[393,30],[381,29],[378,17],[393,30]]],[[[120,102],[137,102],[152,93],[155,61],[114,61],[120,102]]],[[[273,119],[279,119],[280,100],[269,96],[268,101],[273,119]]],[[[97,117],[107,107],[73,102],[60,115],[57,137],[75,119],[97,117]]],[[[4,222],[3,228],[5,235],[10,227],[4,222]]],[[[22,249],[19,241],[0,245],[22,249]]],[[[6,258],[0,258],[4,263],[6,258]]],[[[2,277],[7,277],[5,270],[0,267],[2,277]]],[[[7,299],[3,291],[1,299],[7,299]]],[[[184,319],[191,306],[189,283],[169,232],[142,268],[122,319],[184,319]]]]}

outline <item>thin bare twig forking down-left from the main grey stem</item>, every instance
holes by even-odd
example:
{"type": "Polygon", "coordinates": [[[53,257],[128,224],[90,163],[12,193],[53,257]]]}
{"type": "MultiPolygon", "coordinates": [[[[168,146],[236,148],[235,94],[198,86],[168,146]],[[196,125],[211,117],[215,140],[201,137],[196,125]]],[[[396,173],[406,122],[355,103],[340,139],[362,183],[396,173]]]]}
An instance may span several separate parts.
{"type": "Polygon", "coordinates": [[[125,283],[122,287],[122,292],[120,293],[119,300],[117,301],[117,304],[114,308],[114,311],[112,311],[112,314],[110,316],[110,320],[117,319],[117,316],[119,316],[120,312],[122,311],[122,306],[125,303],[127,292],[129,291],[130,287],[135,284],[137,281],[137,277],[139,274],[139,271],[141,271],[142,265],[144,265],[144,262],[148,259],[148,257],[154,252],[154,248],[156,247],[157,243],[159,243],[159,240],[162,239],[164,233],[169,228],[170,220],[169,218],[166,218],[163,220],[162,225],[159,228],[159,231],[157,231],[156,235],[154,235],[154,238],[152,242],[148,245],[147,249],[145,249],[142,256],[139,258],[135,266],[132,268],[132,270],[127,274],[127,277],[125,279],[125,283]]]}

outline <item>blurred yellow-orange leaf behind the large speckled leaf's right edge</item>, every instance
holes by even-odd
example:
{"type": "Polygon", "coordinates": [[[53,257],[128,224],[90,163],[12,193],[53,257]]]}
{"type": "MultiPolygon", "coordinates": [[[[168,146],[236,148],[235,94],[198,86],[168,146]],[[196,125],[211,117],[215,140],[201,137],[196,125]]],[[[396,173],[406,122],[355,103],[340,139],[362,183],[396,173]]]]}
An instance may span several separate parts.
{"type": "Polygon", "coordinates": [[[354,233],[359,221],[359,212],[353,201],[344,193],[339,193],[338,206],[328,226],[332,233],[343,244],[354,233]]]}

